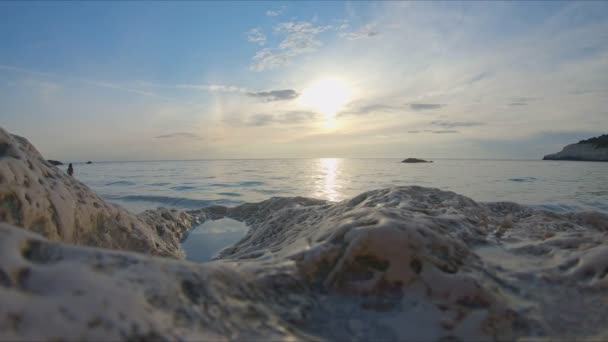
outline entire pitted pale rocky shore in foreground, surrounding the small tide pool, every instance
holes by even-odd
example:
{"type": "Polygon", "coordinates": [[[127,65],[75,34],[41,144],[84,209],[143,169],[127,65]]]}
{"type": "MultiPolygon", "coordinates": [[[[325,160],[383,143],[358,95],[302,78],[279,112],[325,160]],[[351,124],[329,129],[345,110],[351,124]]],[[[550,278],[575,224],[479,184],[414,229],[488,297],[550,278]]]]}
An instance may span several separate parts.
{"type": "Polygon", "coordinates": [[[0,146],[0,340],[608,337],[600,213],[414,186],[134,215],[24,138],[0,146]],[[251,229],[178,260],[188,229],[223,217],[251,229]]]}

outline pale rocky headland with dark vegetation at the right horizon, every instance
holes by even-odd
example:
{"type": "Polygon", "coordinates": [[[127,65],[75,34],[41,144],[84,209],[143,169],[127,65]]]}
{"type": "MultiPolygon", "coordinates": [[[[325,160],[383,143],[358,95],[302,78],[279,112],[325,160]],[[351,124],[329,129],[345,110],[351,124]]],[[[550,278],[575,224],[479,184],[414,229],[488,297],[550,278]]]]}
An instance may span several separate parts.
{"type": "Polygon", "coordinates": [[[608,134],[567,145],[558,153],[544,156],[543,160],[608,161],[608,134]]]}

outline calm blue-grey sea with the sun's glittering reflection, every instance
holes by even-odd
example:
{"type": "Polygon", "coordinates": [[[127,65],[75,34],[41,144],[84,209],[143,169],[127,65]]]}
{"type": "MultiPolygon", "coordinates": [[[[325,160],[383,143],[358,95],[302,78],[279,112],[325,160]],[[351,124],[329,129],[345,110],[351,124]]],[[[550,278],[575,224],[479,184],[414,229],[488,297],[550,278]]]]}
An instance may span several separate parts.
{"type": "Polygon", "coordinates": [[[75,176],[133,212],[158,206],[237,205],[273,196],[339,201],[390,186],[420,185],[477,201],[554,211],[608,212],[608,163],[512,160],[279,159],[75,164],[75,176]]]}

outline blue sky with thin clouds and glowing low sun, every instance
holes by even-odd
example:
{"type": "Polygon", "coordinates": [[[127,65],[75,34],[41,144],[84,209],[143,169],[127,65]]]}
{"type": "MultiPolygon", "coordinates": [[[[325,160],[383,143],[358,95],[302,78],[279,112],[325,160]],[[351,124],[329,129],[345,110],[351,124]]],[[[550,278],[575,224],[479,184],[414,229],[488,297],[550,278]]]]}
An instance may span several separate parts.
{"type": "Polygon", "coordinates": [[[0,126],[64,161],[539,159],[608,131],[608,2],[0,2],[0,126]]]}

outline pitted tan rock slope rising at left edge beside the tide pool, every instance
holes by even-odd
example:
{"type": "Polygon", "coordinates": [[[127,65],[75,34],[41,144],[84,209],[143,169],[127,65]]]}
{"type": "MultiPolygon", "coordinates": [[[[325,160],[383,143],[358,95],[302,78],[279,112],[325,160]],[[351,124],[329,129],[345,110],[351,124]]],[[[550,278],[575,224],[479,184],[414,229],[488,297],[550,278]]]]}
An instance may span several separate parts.
{"type": "Polygon", "coordinates": [[[173,215],[149,213],[142,220],[106,203],[45,161],[25,138],[0,128],[0,221],[51,240],[179,257],[188,216],[181,214],[176,224],[173,215]]]}

